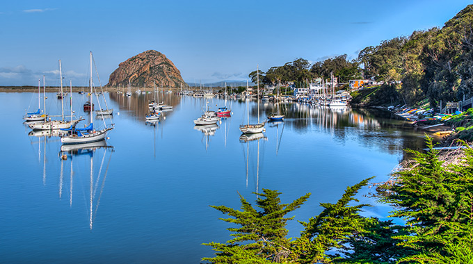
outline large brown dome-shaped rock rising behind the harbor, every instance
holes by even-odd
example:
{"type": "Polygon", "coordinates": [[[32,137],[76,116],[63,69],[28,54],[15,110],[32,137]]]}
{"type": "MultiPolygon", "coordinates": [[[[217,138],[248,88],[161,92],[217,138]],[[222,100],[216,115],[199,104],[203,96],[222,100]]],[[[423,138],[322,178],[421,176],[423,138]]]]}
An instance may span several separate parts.
{"type": "Polygon", "coordinates": [[[179,88],[185,87],[181,72],[172,61],[159,51],[145,51],[125,60],[118,65],[118,69],[110,74],[107,85],[127,87],[128,82],[132,87],[159,87],[179,88]]]}

